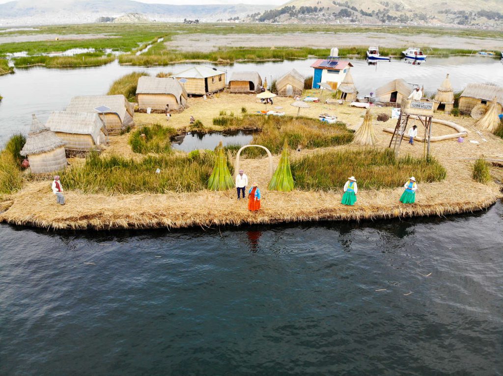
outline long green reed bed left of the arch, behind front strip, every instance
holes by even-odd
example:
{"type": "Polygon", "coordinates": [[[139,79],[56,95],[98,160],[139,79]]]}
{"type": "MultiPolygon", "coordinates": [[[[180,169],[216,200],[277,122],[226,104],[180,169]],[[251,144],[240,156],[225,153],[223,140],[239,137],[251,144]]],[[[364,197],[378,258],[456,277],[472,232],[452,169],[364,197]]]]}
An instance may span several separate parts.
{"type": "Polygon", "coordinates": [[[68,190],[85,193],[195,192],[206,189],[214,164],[213,152],[148,156],[141,161],[90,153],[85,164],[62,173],[61,182],[68,190]]]}

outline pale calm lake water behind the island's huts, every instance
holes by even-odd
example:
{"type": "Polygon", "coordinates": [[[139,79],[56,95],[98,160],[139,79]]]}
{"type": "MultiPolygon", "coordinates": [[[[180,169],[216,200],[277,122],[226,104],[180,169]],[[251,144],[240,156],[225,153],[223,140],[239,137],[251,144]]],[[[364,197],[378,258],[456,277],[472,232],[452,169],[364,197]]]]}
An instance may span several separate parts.
{"type": "MultiPolygon", "coordinates": [[[[228,73],[233,71],[256,70],[269,83],[282,74],[297,69],[305,76],[312,75],[310,65],[314,59],[289,60],[284,62],[236,63],[220,66],[228,73]]],[[[425,86],[427,92],[434,92],[450,73],[454,90],[462,90],[469,82],[503,82],[503,64],[498,59],[480,56],[454,56],[449,58],[429,57],[422,65],[407,64],[404,60],[380,62],[377,66],[367,65],[365,60],[353,59],[353,78],[361,94],[367,94],[395,78],[425,86]]],[[[111,83],[124,74],[133,71],[180,72],[194,64],[174,64],[164,67],[120,66],[118,62],[81,69],[47,69],[35,67],[18,69],[16,74],[0,77],[0,144],[15,132],[27,133],[31,124],[31,114],[46,121],[54,110],[63,110],[75,95],[106,94],[111,83]]]]}

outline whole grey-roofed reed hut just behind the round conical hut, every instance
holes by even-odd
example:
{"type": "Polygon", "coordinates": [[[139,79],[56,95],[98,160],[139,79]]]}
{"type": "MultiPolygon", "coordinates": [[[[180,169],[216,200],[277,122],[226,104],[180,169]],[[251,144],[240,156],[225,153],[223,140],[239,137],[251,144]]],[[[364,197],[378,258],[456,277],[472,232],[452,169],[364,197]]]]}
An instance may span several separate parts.
{"type": "Polygon", "coordinates": [[[98,113],[53,111],[46,127],[64,141],[69,151],[90,151],[105,143],[107,137],[98,113]]]}

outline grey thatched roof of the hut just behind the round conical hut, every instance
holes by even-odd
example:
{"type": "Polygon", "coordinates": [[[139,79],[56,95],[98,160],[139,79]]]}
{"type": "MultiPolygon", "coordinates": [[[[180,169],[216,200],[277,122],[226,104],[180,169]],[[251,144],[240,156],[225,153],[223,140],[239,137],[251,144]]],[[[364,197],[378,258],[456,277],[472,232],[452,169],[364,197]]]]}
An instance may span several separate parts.
{"type": "Polygon", "coordinates": [[[100,134],[107,129],[98,113],[53,111],[47,119],[46,127],[53,132],[91,135],[95,144],[100,143],[100,134]]]}

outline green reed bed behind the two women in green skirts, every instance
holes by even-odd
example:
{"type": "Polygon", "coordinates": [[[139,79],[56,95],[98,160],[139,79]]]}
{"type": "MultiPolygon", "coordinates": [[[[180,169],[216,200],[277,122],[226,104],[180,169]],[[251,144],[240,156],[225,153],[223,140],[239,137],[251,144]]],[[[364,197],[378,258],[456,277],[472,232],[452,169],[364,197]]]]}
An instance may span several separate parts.
{"type": "Polygon", "coordinates": [[[444,167],[433,158],[397,159],[390,149],[372,148],[308,155],[292,163],[292,173],[297,188],[324,191],[341,189],[349,176],[356,177],[360,189],[399,187],[410,176],[420,183],[446,177],[444,167]]]}

